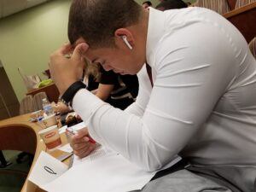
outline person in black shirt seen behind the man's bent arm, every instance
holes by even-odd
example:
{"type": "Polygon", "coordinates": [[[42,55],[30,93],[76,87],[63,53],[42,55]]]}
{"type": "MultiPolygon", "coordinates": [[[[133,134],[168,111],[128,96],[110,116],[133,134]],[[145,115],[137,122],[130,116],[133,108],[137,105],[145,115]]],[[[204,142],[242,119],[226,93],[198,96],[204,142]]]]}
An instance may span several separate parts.
{"type": "MultiPolygon", "coordinates": [[[[97,64],[94,63],[93,65],[97,64]]],[[[90,67],[90,72],[85,73],[84,83],[87,86],[86,89],[102,101],[122,110],[135,102],[138,93],[137,75],[120,75],[113,71],[107,72],[101,66],[90,67]]],[[[54,103],[53,108],[56,113],[70,112],[70,109],[62,102],[54,103]]]]}

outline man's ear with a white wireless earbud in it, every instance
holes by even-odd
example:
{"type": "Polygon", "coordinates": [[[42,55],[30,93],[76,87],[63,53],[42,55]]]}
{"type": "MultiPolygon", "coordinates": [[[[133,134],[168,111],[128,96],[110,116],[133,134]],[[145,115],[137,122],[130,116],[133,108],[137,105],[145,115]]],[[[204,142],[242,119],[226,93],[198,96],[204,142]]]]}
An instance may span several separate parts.
{"type": "Polygon", "coordinates": [[[125,29],[125,28],[117,29],[114,32],[114,38],[115,38],[115,43],[118,46],[123,47],[123,45],[125,45],[125,47],[129,49],[133,49],[135,45],[133,35],[128,29],[125,29]]]}

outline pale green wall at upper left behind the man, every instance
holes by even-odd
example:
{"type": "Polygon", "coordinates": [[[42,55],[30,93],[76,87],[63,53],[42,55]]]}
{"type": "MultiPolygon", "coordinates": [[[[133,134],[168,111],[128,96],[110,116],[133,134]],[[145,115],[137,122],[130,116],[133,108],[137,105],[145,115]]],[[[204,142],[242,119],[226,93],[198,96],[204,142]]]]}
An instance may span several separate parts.
{"type": "Polygon", "coordinates": [[[0,20],[0,60],[19,100],[26,87],[17,68],[44,78],[50,53],[67,42],[70,3],[55,0],[0,20]]]}

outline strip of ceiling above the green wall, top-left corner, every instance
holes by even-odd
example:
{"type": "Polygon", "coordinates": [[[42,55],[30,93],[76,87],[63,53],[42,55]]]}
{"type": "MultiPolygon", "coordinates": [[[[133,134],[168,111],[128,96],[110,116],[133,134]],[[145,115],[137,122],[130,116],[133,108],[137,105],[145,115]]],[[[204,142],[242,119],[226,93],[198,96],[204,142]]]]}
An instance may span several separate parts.
{"type": "Polygon", "coordinates": [[[50,0],[0,0],[0,19],[50,0]]]}

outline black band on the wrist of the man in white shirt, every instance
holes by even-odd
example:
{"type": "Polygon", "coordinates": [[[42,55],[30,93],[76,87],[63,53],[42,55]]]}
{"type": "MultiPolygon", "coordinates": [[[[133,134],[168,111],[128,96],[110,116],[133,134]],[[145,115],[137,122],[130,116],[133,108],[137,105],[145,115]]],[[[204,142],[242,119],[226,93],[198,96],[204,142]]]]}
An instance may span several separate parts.
{"type": "Polygon", "coordinates": [[[86,85],[82,81],[74,82],[63,93],[63,95],[61,96],[61,101],[64,102],[67,107],[72,107],[73,97],[81,89],[86,89],[86,85]]]}

